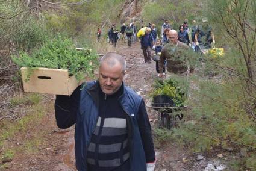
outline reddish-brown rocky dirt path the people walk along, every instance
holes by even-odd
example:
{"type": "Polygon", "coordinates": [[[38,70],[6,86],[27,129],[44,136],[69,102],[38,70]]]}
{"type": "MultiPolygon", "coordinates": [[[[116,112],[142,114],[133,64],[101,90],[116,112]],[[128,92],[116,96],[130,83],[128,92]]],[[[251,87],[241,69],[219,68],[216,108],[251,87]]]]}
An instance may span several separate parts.
{"type": "MultiPolygon", "coordinates": [[[[117,48],[110,45],[109,51],[122,54],[127,63],[125,84],[132,87],[145,102],[149,100],[149,92],[157,77],[155,63],[145,63],[139,42],[133,43],[132,48],[125,44],[117,44],[117,48]]],[[[152,53],[154,53],[152,51],[152,53]]],[[[24,138],[29,138],[40,132],[43,134],[43,145],[33,152],[17,153],[8,163],[6,170],[76,170],[74,155],[74,126],[69,129],[59,129],[55,124],[54,96],[46,98],[46,111],[42,123],[36,128],[30,128],[26,137],[16,136],[10,141],[10,146],[19,148],[24,138]]],[[[149,119],[152,127],[157,126],[157,112],[148,108],[149,119]]],[[[186,148],[180,148],[172,141],[156,143],[157,165],[155,170],[223,170],[225,166],[219,159],[212,160],[212,156],[201,154],[189,154],[186,148]]],[[[217,157],[215,157],[217,158],[217,157]]],[[[221,159],[221,157],[219,157],[221,159]]],[[[1,168],[0,168],[1,170],[1,168]]]]}

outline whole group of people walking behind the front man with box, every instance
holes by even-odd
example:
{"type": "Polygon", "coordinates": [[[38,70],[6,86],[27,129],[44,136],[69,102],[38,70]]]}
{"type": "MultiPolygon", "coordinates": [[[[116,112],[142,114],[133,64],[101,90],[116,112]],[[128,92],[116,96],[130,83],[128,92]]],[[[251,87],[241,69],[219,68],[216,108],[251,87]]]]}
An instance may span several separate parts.
{"type": "Polygon", "coordinates": [[[189,26],[188,20],[185,19],[179,25],[178,31],[173,30],[169,21],[165,20],[161,25],[160,34],[154,23],[145,26],[143,22],[140,29],[131,22],[128,25],[122,23],[120,30],[117,30],[116,24],[113,24],[108,30],[108,43],[113,44],[114,47],[117,40],[121,43],[126,43],[127,40],[128,47],[132,48],[132,43],[136,42],[137,38],[140,41],[145,63],[151,63],[154,60],[155,69],[160,77],[165,75],[166,67],[167,71],[172,73],[184,75],[185,72],[193,72],[192,67],[188,70],[184,60],[187,51],[202,53],[202,49],[212,48],[215,44],[212,27],[205,18],[199,24],[193,20],[192,26],[189,26]],[[154,55],[151,55],[152,51],[155,52],[154,55]]]}

